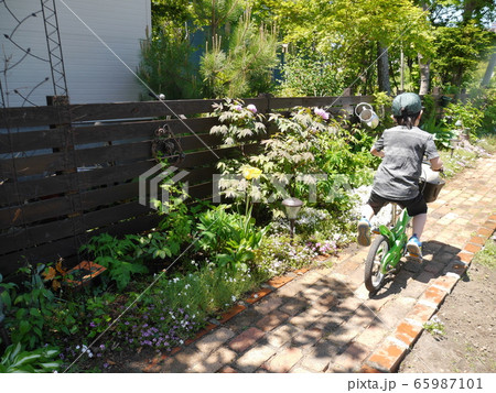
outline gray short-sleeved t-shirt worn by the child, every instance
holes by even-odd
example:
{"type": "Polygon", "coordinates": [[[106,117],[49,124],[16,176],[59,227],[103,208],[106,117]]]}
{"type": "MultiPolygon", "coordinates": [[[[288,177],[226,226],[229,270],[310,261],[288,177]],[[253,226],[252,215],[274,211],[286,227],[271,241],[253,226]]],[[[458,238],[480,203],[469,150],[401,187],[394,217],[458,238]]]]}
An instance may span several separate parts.
{"type": "Polygon", "coordinates": [[[393,200],[417,197],[423,155],[428,160],[439,156],[432,134],[418,127],[409,130],[397,125],[385,130],[374,146],[385,153],[374,178],[374,192],[393,200]]]}

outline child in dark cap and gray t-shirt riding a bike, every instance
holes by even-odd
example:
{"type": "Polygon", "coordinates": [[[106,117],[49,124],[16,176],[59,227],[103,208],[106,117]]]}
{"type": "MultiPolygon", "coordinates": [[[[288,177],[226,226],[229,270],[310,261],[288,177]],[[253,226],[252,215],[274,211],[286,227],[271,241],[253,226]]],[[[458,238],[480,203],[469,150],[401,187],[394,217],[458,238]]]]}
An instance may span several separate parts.
{"type": "Polygon", "coordinates": [[[370,245],[370,219],[374,215],[388,203],[396,203],[413,217],[413,236],[408,240],[407,251],[411,256],[422,258],[420,237],[428,211],[419,189],[422,160],[425,155],[433,171],[441,171],[443,163],[432,134],[418,127],[421,117],[422,103],[414,92],[401,94],[392,101],[392,118],[397,125],[385,130],[370,150],[371,154],[382,157],[382,162],[357,226],[360,245],[370,245]]]}

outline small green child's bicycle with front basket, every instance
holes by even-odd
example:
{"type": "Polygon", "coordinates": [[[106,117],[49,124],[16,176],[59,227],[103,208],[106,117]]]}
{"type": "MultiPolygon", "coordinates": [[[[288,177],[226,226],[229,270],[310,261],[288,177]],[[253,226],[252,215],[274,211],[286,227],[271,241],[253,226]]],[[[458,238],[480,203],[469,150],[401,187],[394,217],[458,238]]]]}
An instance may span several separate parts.
{"type": "MultiPolygon", "coordinates": [[[[423,193],[427,203],[434,201],[444,186],[444,181],[440,178],[429,181],[425,168],[422,171],[422,176],[420,192],[423,193]]],[[[407,209],[402,209],[398,217],[397,209],[397,204],[392,204],[392,226],[390,229],[385,225],[379,226],[378,233],[376,232],[378,237],[371,243],[365,260],[365,287],[369,293],[379,291],[388,275],[398,273],[401,258],[408,255],[407,230],[412,217],[408,215],[407,209]]]]}

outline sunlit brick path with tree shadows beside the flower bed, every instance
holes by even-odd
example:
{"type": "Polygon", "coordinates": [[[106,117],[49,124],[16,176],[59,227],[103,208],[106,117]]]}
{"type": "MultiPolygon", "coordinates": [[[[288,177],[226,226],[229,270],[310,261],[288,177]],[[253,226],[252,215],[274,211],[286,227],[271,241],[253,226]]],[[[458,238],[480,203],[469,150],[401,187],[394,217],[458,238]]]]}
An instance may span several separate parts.
{"type": "Polygon", "coordinates": [[[496,229],[496,157],[481,159],[430,204],[424,261],[408,261],[369,298],[368,249],[352,245],[333,266],[266,283],[219,325],[145,372],[393,372],[496,229]]]}

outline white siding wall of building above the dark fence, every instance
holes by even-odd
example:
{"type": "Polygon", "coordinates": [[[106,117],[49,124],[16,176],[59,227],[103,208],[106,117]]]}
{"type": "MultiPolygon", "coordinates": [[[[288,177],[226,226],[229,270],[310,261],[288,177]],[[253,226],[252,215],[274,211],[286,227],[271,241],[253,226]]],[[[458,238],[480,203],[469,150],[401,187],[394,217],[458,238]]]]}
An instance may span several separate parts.
{"type": "MultiPolygon", "coordinates": [[[[140,40],[145,37],[147,26],[151,25],[150,0],[56,0],[58,26],[64,56],[65,74],[71,103],[119,102],[138,100],[141,86],[133,74],[116,57],[126,63],[133,72],[140,62],[140,40]],[[84,21],[114,52],[112,54],[79,21],[84,21]]],[[[45,31],[42,14],[29,18],[12,34],[18,24],[32,12],[41,9],[40,0],[6,0],[12,17],[0,3],[0,72],[4,69],[4,58],[13,65],[23,56],[3,34],[31,53],[45,61],[25,57],[19,65],[0,73],[0,81],[9,107],[23,105],[24,96],[44,78],[50,80],[35,89],[30,100],[37,106],[46,105],[46,96],[52,96],[53,85],[45,31]],[[8,92],[8,95],[6,95],[8,92]]],[[[29,103],[24,103],[29,106],[29,103]]]]}

